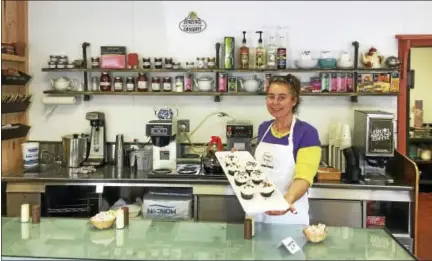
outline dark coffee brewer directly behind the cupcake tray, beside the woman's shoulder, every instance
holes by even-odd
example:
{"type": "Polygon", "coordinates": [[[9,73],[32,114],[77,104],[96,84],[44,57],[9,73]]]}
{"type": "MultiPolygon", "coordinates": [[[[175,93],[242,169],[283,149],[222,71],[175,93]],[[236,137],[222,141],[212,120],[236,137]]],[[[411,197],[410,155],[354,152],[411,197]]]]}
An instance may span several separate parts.
{"type": "Polygon", "coordinates": [[[252,153],[253,125],[250,121],[232,120],[227,122],[226,136],[228,150],[235,147],[252,153]]]}

